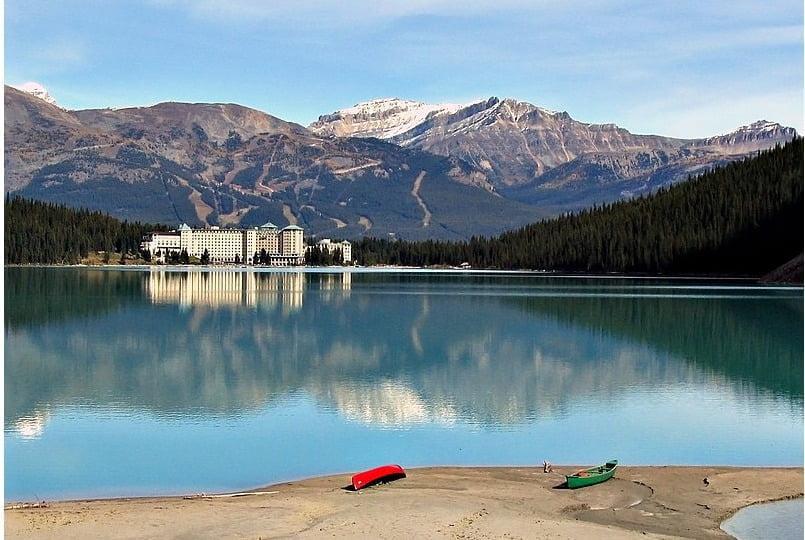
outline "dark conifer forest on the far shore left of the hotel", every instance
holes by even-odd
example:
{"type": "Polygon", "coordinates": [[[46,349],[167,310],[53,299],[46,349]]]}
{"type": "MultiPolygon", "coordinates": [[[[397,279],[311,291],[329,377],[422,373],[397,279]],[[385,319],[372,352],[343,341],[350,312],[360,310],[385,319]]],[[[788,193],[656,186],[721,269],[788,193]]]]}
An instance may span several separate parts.
{"type": "Polygon", "coordinates": [[[101,212],[6,197],[5,263],[75,264],[91,251],[136,253],[146,232],[164,229],[101,212]]]}

